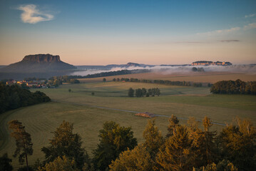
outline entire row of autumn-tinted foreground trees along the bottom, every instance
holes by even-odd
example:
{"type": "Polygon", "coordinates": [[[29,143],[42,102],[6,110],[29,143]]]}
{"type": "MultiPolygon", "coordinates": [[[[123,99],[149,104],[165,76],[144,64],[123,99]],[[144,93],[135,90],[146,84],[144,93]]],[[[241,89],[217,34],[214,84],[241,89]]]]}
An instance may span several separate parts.
{"type": "MultiPolygon", "coordinates": [[[[82,147],[81,136],[73,133],[73,124],[63,121],[53,132],[49,145],[42,147],[43,162],[29,167],[27,156],[33,154],[31,136],[18,120],[11,120],[11,136],[16,140],[15,156],[24,170],[193,170],[247,171],[256,169],[256,130],[250,120],[237,118],[217,135],[213,123],[205,117],[202,127],[195,118],[181,125],[175,115],[169,118],[168,133],[162,135],[155,120],[148,120],[143,131],[144,142],[138,144],[130,127],[113,121],[103,124],[100,141],[93,157],[82,147]]],[[[10,168],[5,154],[0,158],[0,170],[10,168]]],[[[21,167],[22,169],[22,167],[21,167]]],[[[11,169],[9,169],[11,170],[11,169]]]]}

